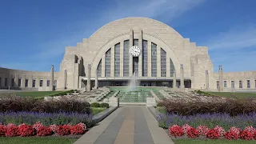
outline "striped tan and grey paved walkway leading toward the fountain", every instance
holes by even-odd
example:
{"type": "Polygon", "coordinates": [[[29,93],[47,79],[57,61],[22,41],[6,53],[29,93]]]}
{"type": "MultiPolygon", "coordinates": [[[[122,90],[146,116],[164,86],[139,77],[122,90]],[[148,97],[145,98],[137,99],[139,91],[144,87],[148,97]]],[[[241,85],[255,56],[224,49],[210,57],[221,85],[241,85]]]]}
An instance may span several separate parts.
{"type": "Polygon", "coordinates": [[[74,143],[174,144],[146,106],[118,108],[74,143]]]}

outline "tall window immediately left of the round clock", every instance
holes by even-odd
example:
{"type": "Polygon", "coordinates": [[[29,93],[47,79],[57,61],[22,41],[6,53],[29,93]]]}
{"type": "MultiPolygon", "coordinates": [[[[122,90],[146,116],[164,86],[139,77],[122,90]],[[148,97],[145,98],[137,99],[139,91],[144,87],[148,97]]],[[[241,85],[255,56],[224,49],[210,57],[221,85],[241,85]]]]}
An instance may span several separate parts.
{"type": "Polygon", "coordinates": [[[130,64],[130,55],[129,55],[130,41],[126,40],[123,42],[123,76],[129,77],[129,64],[130,64]]]}

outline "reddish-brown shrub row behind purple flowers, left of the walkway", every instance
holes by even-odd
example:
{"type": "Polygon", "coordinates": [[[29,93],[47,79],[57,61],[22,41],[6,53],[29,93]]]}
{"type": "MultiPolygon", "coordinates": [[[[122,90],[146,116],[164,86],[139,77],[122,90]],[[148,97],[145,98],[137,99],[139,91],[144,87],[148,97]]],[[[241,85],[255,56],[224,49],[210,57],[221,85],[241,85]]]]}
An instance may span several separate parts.
{"type": "Polygon", "coordinates": [[[0,98],[0,112],[32,111],[44,113],[78,112],[90,114],[89,102],[61,98],[59,101],[46,102],[34,98],[10,97],[0,98]]]}

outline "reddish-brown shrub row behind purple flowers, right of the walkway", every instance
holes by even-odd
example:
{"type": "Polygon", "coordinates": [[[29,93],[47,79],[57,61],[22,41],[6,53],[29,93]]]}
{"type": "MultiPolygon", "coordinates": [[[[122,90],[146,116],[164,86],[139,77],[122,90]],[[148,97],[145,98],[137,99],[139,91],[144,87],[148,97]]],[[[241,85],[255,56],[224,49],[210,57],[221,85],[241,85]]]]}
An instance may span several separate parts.
{"type": "Polygon", "coordinates": [[[256,112],[256,105],[250,99],[226,98],[225,102],[197,102],[173,101],[164,98],[158,105],[165,106],[168,113],[180,115],[225,113],[230,116],[251,114],[256,112]]]}

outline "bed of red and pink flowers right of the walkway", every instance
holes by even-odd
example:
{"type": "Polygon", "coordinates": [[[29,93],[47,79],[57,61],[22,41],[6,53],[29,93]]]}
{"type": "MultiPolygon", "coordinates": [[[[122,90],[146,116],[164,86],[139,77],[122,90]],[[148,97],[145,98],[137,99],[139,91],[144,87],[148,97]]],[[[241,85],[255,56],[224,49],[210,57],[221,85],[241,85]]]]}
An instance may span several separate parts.
{"type": "Polygon", "coordinates": [[[169,127],[169,134],[171,137],[186,137],[186,138],[210,138],[219,139],[225,138],[231,139],[244,139],[253,140],[256,139],[256,130],[253,126],[246,126],[243,130],[238,127],[230,127],[229,130],[225,131],[221,126],[215,126],[210,129],[207,126],[198,126],[196,128],[185,124],[183,126],[173,125],[169,127]]]}

